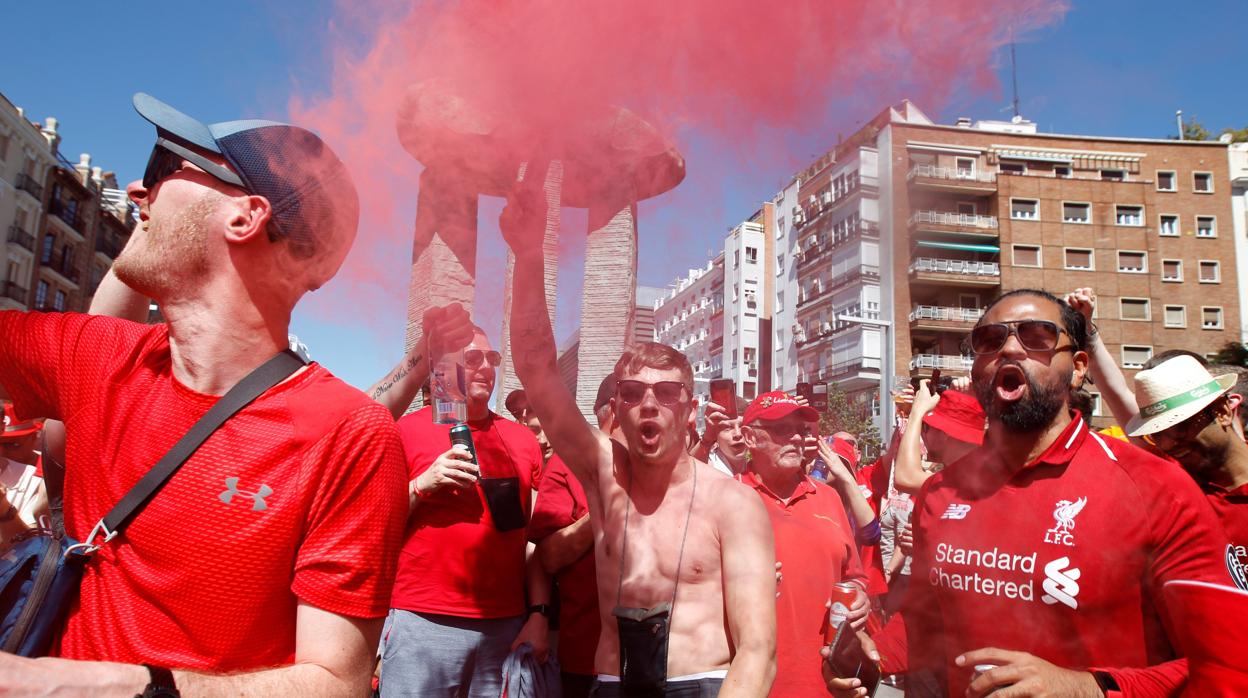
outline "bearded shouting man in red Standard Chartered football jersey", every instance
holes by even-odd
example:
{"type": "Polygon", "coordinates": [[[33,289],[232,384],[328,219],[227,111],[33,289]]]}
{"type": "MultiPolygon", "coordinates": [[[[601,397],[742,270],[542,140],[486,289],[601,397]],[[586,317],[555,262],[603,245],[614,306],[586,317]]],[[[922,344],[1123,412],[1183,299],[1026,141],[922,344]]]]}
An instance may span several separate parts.
{"type": "Polygon", "coordinates": [[[1003,295],[971,332],[988,430],[919,494],[904,609],[910,668],[943,672],[950,694],[1177,693],[1187,667],[1161,587],[1226,579],[1191,478],[1070,410],[1086,336],[1035,290],[1003,295]]]}

